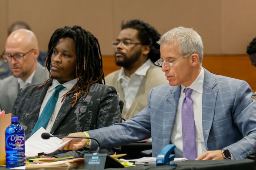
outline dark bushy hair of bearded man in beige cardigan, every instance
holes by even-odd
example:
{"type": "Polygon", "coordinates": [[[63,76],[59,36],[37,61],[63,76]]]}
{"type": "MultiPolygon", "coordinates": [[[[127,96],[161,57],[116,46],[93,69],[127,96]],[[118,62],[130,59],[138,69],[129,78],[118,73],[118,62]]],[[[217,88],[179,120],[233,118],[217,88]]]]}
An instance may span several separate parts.
{"type": "Polygon", "coordinates": [[[138,39],[142,45],[150,45],[148,58],[153,63],[160,58],[160,45],[157,44],[157,41],[160,39],[161,35],[154,27],[142,20],[128,20],[126,23],[124,21],[121,23],[121,29],[123,30],[125,28],[138,30],[138,39]]]}

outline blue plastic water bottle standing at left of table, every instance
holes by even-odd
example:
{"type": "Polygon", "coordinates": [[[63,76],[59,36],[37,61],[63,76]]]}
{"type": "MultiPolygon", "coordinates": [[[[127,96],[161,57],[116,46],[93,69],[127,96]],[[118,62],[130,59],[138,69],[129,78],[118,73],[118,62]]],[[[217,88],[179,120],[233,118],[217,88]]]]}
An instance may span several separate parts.
{"type": "Polygon", "coordinates": [[[12,117],[12,123],[6,128],[6,168],[25,165],[25,133],[18,124],[18,117],[12,117]]]}

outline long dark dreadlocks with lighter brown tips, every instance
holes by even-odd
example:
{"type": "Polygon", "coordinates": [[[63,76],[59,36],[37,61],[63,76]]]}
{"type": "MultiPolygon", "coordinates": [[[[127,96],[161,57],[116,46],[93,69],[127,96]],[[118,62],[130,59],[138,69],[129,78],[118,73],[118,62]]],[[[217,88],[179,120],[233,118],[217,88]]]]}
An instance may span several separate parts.
{"type": "MultiPolygon", "coordinates": [[[[82,92],[84,92],[84,97],[86,97],[90,85],[93,83],[105,84],[105,79],[102,69],[102,54],[99,41],[93,34],[80,26],[65,26],[55,30],[48,45],[48,53],[45,63],[47,70],[49,72],[51,71],[50,67],[53,48],[61,38],[66,37],[72,38],[75,42],[77,82],[70,91],[64,94],[62,100],[64,100],[66,96],[76,93],[76,96],[74,96],[76,99],[72,102],[72,107],[74,107],[82,92]]],[[[51,79],[52,77],[50,75],[49,79],[38,88],[42,88],[47,82],[51,81],[51,79]]]]}

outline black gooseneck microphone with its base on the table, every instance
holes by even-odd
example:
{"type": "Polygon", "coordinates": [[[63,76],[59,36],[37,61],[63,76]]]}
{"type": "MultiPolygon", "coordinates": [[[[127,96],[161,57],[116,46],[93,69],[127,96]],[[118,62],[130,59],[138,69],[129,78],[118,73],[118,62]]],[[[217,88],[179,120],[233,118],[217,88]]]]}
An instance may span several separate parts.
{"type": "Polygon", "coordinates": [[[90,170],[104,170],[106,168],[123,168],[124,166],[119,163],[116,159],[107,155],[106,153],[99,153],[100,144],[97,139],[90,137],[76,137],[76,136],[59,136],[59,135],[51,135],[49,133],[42,133],[41,137],[43,139],[49,139],[50,137],[58,137],[58,138],[78,138],[78,139],[92,139],[98,144],[98,148],[96,153],[85,153],[84,154],[84,169],[90,170]]]}

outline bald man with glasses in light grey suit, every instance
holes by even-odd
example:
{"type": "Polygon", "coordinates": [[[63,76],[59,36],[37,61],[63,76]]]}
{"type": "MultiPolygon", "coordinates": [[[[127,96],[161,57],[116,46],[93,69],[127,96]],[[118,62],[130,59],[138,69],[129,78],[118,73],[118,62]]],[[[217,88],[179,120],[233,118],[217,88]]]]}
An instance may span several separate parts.
{"type": "Polygon", "coordinates": [[[20,89],[49,78],[49,72],[37,62],[38,55],[38,40],[32,31],[18,29],[7,37],[1,57],[8,62],[12,75],[0,82],[1,110],[10,113],[20,89]]]}

